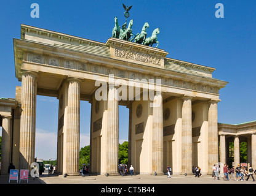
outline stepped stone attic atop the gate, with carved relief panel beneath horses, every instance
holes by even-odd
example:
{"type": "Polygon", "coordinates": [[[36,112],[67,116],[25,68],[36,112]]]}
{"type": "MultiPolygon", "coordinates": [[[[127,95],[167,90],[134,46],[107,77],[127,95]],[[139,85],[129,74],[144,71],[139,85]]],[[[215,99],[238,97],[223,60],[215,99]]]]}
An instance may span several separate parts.
{"type": "Polygon", "coordinates": [[[23,40],[54,45],[69,50],[210,78],[215,70],[212,67],[166,58],[168,53],[159,48],[147,47],[113,37],[108,39],[106,43],[102,43],[33,26],[22,25],[21,29],[23,40]]]}

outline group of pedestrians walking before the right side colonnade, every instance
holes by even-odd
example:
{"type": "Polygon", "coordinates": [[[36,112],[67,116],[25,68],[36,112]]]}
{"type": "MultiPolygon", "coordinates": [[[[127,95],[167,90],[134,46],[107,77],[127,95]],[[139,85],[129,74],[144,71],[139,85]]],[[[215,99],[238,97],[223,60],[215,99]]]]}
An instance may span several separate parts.
{"type": "Polygon", "coordinates": [[[224,177],[223,180],[231,180],[232,178],[234,178],[234,180],[238,181],[248,181],[248,179],[250,178],[250,176],[252,176],[252,181],[255,181],[254,179],[254,173],[256,174],[256,170],[254,171],[254,169],[252,168],[252,165],[248,164],[248,169],[244,166],[241,167],[240,164],[238,164],[238,167],[234,168],[231,167],[229,168],[227,164],[224,164],[223,167],[223,173],[224,173],[224,177]],[[234,173],[236,173],[236,176],[234,175],[234,173]],[[230,175],[230,178],[228,178],[228,175],[230,175]],[[245,177],[247,176],[247,178],[245,179],[245,177]],[[239,178],[238,178],[239,177],[239,178]]]}

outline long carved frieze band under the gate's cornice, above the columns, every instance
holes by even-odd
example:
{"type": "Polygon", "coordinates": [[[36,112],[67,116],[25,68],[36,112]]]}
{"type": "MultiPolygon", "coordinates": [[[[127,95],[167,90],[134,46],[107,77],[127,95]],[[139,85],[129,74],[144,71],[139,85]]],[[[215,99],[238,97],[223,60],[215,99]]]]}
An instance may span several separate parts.
{"type": "MultiPolygon", "coordinates": [[[[132,71],[132,69],[118,69],[118,67],[112,68],[105,66],[104,64],[94,64],[94,62],[88,61],[75,61],[72,59],[65,59],[63,57],[58,56],[48,56],[48,55],[41,55],[36,53],[26,53],[26,56],[23,62],[33,62],[34,65],[47,65],[47,66],[54,66],[54,67],[61,67],[65,69],[72,69],[72,70],[79,70],[83,72],[90,72],[93,74],[101,74],[101,75],[109,75],[114,74],[114,77],[125,78],[125,79],[133,79],[135,80],[138,78],[139,80],[142,79],[156,79],[162,80],[162,85],[170,86],[174,88],[182,88],[182,89],[189,89],[192,91],[200,91],[200,92],[207,92],[210,94],[218,94],[219,88],[209,84],[204,83],[195,83],[193,81],[186,81],[182,78],[166,78],[166,77],[159,77],[158,75],[154,76],[141,74],[140,72],[136,72],[136,70],[132,71]]],[[[120,67],[121,68],[121,67],[120,67]]]]}

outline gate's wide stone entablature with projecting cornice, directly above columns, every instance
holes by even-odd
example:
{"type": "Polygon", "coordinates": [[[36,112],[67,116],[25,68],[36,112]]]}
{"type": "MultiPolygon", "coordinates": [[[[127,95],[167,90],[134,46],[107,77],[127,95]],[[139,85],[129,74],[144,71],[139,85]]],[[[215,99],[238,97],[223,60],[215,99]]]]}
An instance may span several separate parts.
{"type": "MultiPolygon", "coordinates": [[[[96,75],[108,76],[109,74],[114,74],[114,77],[117,78],[139,80],[145,78],[146,80],[154,79],[154,81],[161,79],[162,86],[167,88],[188,89],[193,92],[198,91],[215,95],[218,95],[219,89],[226,85],[225,81],[175,72],[174,70],[167,70],[162,66],[145,67],[140,64],[120,61],[119,59],[113,61],[113,59],[105,57],[94,58],[92,55],[78,53],[77,51],[74,51],[74,55],[71,56],[71,51],[66,51],[66,49],[52,48],[52,46],[44,45],[43,43],[34,43],[27,40],[14,39],[14,44],[17,46],[15,47],[15,72],[19,80],[21,80],[23,63],[33,62],[34,65],[38,66],[71,69],[96,75]],[[43,48],[43,50],[39,48],[43,48]]],[[[166,53],[162,55],[164,56],[166,53]]]]}

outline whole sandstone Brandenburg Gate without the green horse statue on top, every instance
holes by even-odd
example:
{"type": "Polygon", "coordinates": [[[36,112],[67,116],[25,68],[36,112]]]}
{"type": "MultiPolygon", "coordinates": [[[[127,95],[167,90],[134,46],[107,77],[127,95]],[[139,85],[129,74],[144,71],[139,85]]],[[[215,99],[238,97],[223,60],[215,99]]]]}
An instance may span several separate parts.
{"type": "Polygon", "coordinates": [[[15,166],[29,169],[34,162],[36,96],[42,95],[59,102],[57,168],[62,174],[79,175],[80,100],[91,104],[92,172],[118,173],[118,105],[126,105],[129,165],[138,173],[161,175],[167,165],[174,174],[190,175],[193,165],[212,173],[218,162],[219,90],[227,82],[212,78],[212,67],[167,55],[117,37],[102,43],[21,25],[21,38],[14,39],[15,76],[22,81],[12,135],[15,166]]]}

